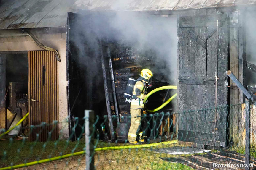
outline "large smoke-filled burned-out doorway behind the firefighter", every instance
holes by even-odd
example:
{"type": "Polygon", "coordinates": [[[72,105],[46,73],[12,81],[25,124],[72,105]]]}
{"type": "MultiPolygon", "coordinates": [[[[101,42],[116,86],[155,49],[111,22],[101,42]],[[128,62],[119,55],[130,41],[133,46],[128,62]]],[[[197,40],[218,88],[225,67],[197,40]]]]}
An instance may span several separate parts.
{"type": "MultiPolygon", "coordinates": [[[[72,140],[80,136],[84,123],[81,121],[76,125],[74,118],[82,119],[85,109],[93,109],[100,116],[99,122],[103,121],[102,117],[106,114],[101,67],[101,55],[104,52],[99,42],[110,51],[119,115],[129,114],[130,104],[127,106],[125,102],[124,90],[128,78],[137,79],[141,69],[148,68],[154,72],[152,89],[176,85],[176,23],[176,16],[146,16],[133,12],[126,14],[88,11],[83,14],[68,14],[67,97],[72,140]]],[[[149,109],[160,106],[165,95],[164,90],[152,95],[148,102],[149,109]]],[[[175,106],[175,102],[170,103],[165,109],[172,111],[175,106]]],[[[115,126],[115,122],[113,125],[115,126]]],[[[106,124],[106,128],[108,127],[106,124]]]]}

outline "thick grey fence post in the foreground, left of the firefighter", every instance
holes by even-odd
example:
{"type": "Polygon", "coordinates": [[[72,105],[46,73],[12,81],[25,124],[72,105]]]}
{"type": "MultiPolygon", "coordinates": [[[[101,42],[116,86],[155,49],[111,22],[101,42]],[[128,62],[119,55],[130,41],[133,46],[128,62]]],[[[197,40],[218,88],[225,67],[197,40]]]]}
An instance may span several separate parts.
{"type": "Polygon", "coordinates": [[[94,170],[94,111],[85,110],[85,163],[86,170],[94,170]]]}

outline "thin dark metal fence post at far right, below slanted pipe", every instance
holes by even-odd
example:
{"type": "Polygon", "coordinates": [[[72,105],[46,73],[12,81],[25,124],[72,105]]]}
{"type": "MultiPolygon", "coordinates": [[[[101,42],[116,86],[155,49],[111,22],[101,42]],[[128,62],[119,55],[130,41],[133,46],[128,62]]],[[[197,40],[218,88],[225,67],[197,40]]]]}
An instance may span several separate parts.
{"type": "Polygon", "coordinates": [[[251,122],[250,122],[250,116],[251,116],[251,106],[250,106],[250,99],[248,102],[246,102],[246,116],[245,116],[245,163],[247,167],[246,170],[249,170],[249,164],[251,160],[251,122]]]}

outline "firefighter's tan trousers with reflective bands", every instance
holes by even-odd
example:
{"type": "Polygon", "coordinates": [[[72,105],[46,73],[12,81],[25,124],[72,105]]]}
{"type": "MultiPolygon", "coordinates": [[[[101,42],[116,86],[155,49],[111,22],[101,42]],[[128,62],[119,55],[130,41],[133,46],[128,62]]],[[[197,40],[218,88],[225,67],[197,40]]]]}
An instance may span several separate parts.
{"type": "Polygon", "coordinates": [[[128,133],[128,141],[136,141],[137,134],[139,134],[140,139],[142,137],[142,131],[140,132],[140,124],[141,124],[141,111],[142,108],[139,109],[131,109],[131,126],[128,133]]]}

